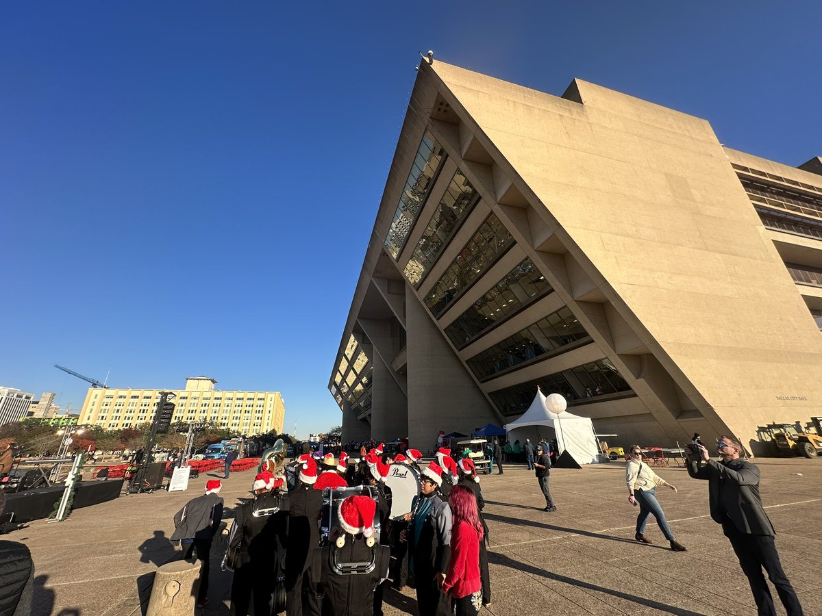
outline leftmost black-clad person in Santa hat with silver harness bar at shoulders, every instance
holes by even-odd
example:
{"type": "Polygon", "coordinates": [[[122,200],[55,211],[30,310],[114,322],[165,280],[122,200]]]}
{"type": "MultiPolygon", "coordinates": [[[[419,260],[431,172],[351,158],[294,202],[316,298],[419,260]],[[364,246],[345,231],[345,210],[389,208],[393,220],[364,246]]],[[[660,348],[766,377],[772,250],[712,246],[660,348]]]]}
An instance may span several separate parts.
{"type": "Polygon", "coordinates": [[[269,497],[284,486],[282,478],[269,471],[257,475],[252,484],[254,499],[236,510],[229,549],[238,551],[231,584],[232,616],[247,616],[254,602],[254,614],[270,614],[274,607],[274,581],[285,554],[289,513],[280,509],[270,515],[255,515],[279,504],[269,497]]]}

